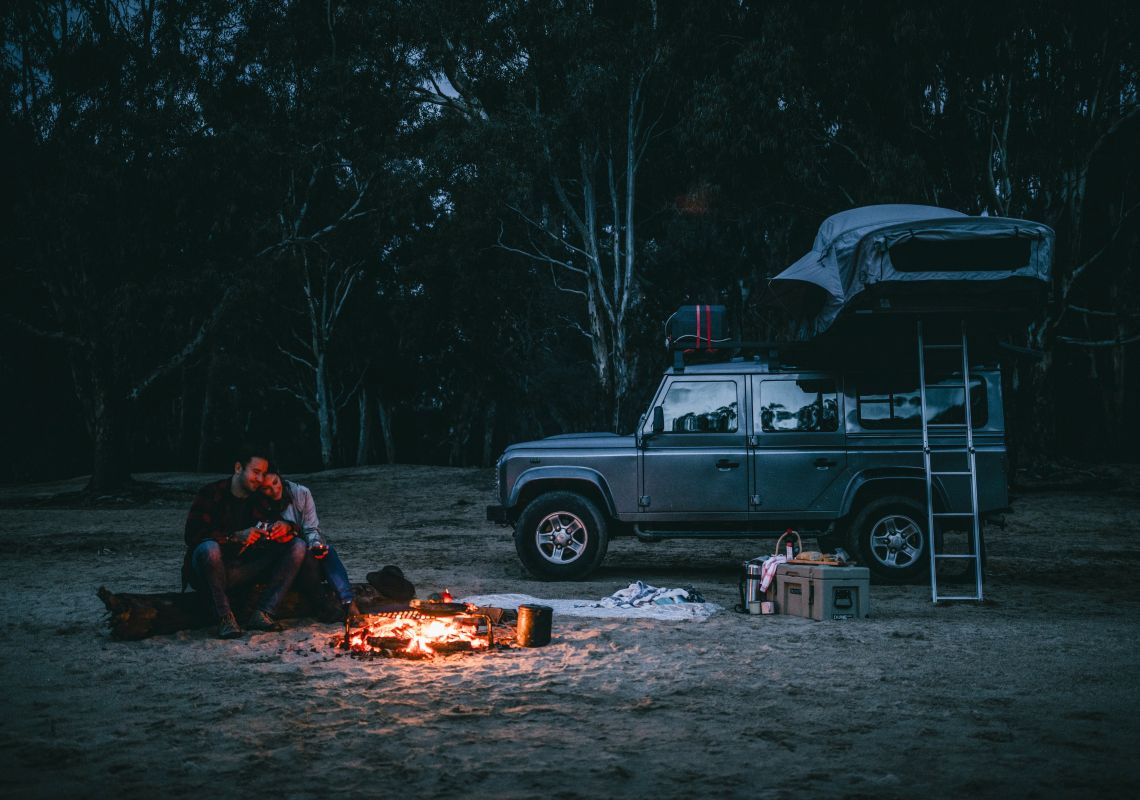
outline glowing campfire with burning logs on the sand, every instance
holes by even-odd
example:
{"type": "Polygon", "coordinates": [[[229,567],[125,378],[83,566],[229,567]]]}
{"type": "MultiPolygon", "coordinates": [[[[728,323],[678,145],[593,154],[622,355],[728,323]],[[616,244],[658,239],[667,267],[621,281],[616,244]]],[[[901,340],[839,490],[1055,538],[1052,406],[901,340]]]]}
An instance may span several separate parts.
{"type": "Polygon", "coordinates": [[[433,659],[438,655],[488,651],[496,644],[491,619],[461,603],[434,604],[386,614],[368,614],[333,645],[364,658],[433,659]],[[450,606],[450,607],[442,607],[450,606]]]}

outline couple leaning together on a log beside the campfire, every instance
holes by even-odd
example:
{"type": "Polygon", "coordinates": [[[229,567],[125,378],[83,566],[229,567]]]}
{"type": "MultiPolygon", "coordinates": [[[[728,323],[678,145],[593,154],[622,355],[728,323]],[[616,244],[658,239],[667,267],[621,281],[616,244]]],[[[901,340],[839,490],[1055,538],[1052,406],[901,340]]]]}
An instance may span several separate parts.
{"type": "Polygon", "coordinates": [[[320,532],[312,493],[283,480],[264,449],[243,449],[233,475],[198,490],[185,539],[182,588],[210,597],[223,639],[243,632],[228,591],[258,581],[266,588],[244,620],[251,630],[282,629],[274,614],[294,581],[317,607],[327,581],[343,614],[357,613],[348,571],[320,532]]]}

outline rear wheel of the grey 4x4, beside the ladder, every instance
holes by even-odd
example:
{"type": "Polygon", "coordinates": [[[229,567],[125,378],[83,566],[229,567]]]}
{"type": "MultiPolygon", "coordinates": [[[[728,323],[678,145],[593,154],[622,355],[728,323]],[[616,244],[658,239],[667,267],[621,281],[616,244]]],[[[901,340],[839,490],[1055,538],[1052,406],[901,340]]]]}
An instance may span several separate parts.
{"type": "Polygon", "coordinates": [[[913,582],[930,574],[930,537],[922,505],[909,497],[882,497],[852,521],[852,545],[876,578],[913,582]]]}

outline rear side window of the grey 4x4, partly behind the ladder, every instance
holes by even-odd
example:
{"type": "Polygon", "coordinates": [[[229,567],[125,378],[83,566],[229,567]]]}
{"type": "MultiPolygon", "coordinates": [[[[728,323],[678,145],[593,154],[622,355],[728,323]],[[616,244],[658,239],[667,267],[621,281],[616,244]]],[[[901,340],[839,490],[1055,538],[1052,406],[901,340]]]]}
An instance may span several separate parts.
{"type": "MultiPolygon", "coordinates": [[[[962,405],[962,378],[944,377],[927,390],[927,419],[934,424],[966,422],[962,405]],[[954,384],[958,385],[954,385],[954,384]]],[[[865,378],[860,381],[856,393],[860,425],[868,430],[918,428],[922,426],[922,399],[912,382],[865,378]]],[[[970,378],[970,419],[974,427],[987,422],[986,384],[982,378],[970,378]]]]}

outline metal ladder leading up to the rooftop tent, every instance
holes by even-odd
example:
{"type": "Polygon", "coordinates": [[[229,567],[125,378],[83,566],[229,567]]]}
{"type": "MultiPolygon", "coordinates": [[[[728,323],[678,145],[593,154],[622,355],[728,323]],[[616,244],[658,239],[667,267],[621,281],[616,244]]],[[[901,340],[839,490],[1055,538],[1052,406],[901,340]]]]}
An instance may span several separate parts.
{"type": "MultiPolygon", "coordinates": [[[[922,466],[926,475],[926,490],[927,490],[927,541],[930,550],[930,598],[934,603],[940,603],[943,601],[977,601],[983,599],[982,595],[982,524],[978,519],[978,470],[977,470],[977,457],[974,450],[974,419],[971,418],[970,411],[970,358],[967,350],[966,341],[966,323],[962,321],[961,326],[962,338],[960,343],[955,344],[927,344],[922,335],[922,321],[918,323],[918,340],[919,340],[919,397],[921,399],[921,413],[922,413],[922,466]],[[931,350],[940,351],[959,351],[962,357],[962,406],[964,410],[966,422],[963,423],[931,423],[927,418],[927,392],[931,387],[927,384],[927,353],[931,350]],[[966,447],[959,447],[956,443],[953,446],[939,446],[939,449],[933,451],[930,444],[930,431],[945,431],[947,433],[962,432],[964,433],[966,447]],[[940,456],[945,455],[960,455],[966,458],[966,470],[954,468],[954,470],[935,470],[934,468],[934,455],[937,452],[940,456]],[[970,482],[970,511],[968,512],[951,512],[951,511],[935,511],[934,506],[934,479],[942,476],[953,476],[954,479],[968,479],[970,482]],[[938,552],[938,536],[936,534],[935,522],[938,520],[951,520],[954,517],[959,519],[970,519],[970,538],[969,541],[972,545],[970,553],[939,553],[938,552]],[[974,568],[974,594],[942,594],[938,590],[938,562],[939,561],[968,561],[974,568]]],[[[939,389],[946,389],[945,385],[939,386],[939,389]]],[[[956,389],[956,386],[950,386],[950,389],[956,389]]]]}

